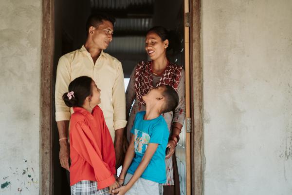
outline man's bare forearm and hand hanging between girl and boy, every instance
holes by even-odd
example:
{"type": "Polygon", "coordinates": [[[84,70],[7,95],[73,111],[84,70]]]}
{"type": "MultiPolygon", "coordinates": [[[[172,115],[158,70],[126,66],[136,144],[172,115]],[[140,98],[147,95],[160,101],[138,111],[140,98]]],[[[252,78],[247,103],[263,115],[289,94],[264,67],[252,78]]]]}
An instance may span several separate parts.
{"type": "Polygon", "coordinates": [[[124,128],[115,130],[114,136],[114,150],[116,155],[116,169],[122,164],[123,160],[123,139],[124,139],[124,128]]]}

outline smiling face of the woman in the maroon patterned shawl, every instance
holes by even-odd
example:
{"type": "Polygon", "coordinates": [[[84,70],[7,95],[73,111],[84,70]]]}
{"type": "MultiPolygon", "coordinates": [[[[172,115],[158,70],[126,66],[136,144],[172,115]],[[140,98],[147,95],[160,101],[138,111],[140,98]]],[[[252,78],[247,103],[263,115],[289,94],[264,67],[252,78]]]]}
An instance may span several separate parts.
{"type": "Polygon", "coordinates": [[[149,32],[145,39],[145,50],[150,59],[155,60],[166,57],[166,48],[168,40],[162,40],[156,33],[149,32]]]}

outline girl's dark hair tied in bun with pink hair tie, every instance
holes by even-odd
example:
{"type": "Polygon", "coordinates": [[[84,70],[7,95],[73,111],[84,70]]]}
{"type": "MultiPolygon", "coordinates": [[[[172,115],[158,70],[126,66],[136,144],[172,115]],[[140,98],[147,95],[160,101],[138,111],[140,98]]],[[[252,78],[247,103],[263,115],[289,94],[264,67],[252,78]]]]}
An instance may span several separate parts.
{"type": "Polygon", "coordinates": [[[91,95],[91,81],[92,78],[87,76],[75,78],[68,87],[69,92],[74,92],[71,99],[67,96],[68,92],[63,95],[65,104],[68,107],[81,107],[84,100],[91,95]]]}

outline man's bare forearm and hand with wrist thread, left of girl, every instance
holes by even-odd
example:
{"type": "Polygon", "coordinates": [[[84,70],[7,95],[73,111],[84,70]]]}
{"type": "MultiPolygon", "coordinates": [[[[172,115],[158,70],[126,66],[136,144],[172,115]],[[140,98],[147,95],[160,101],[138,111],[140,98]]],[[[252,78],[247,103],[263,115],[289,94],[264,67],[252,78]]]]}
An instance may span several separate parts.
{"type": "MultiPolygon", "coordinates": [[[[68,137],[68,127],[69,120],[60,120],[57,121],[59,138],[67,138],[68,137]]],[[[62,139],[59,141],[60,144],[60,152],[59,158],[61,166],[69,171],[69,156],[70,156],[70,147],[68,143],[68,139],[62,139]]]]}

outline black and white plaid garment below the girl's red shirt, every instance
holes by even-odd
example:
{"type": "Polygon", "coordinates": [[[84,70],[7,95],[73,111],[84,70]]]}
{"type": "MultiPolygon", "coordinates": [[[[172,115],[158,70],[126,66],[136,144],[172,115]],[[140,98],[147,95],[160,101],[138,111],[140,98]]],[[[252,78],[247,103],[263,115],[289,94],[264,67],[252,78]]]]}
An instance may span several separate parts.
{"type": "Polygon", "coordinates": [[[71,195],[110,195],[109,187],[98,190],[96,181],[79,181],[71,186],[71,195]]]}

